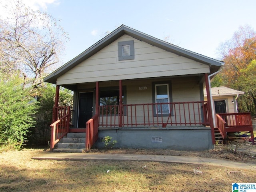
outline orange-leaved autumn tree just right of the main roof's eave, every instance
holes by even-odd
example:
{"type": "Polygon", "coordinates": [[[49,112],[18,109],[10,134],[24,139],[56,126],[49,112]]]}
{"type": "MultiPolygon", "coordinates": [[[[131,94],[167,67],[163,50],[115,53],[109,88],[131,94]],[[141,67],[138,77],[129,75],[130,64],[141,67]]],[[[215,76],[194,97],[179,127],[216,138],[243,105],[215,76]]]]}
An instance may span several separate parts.
{"type": "Polygon", "coordinates": [[[242,90],[238,77],[256,59],[256,32],[250,26],[241,26],[230,40],[220,45],[219,51],[225,62],[220,73],[222,84],[242,90]]]}

